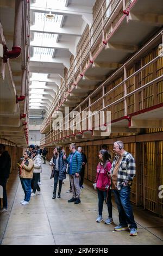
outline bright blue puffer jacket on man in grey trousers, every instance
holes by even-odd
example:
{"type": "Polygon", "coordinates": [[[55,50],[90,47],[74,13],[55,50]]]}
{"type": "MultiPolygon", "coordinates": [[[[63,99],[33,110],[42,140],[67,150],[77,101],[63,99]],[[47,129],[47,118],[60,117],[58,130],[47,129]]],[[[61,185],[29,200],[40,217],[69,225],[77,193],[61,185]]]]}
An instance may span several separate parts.
{"type": "Polygon", "coordinates": [[[67,159],[65,160],[66,163],[68,163],[68,172],[70,171],[70,158],[71,155],[73,154],[72,157],[72,174],[75,173],[80,173],[81,169],[82,169],[82,155],[78,152],[75,151],[75,153],[70,153],[70,155],[67,157],[67,159]]]}

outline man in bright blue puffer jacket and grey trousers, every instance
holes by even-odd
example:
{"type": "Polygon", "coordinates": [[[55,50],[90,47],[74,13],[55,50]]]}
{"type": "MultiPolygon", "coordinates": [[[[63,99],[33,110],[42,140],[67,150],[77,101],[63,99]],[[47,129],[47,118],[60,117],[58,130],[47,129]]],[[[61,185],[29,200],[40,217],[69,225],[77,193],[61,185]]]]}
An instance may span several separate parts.
{"type": "Polygon", "coordinates": [[[79,204],[81,202],[79,173],[82,169],[82,155],[76,150],[75,143],[71,143],[69,149],[71,153],[67,159],[66,155],[64,155],[64,160],[68,163],[68,174],[70,177],[73,197],[68,200],[68,203],[74,202],[74,204],[79,204]]]}

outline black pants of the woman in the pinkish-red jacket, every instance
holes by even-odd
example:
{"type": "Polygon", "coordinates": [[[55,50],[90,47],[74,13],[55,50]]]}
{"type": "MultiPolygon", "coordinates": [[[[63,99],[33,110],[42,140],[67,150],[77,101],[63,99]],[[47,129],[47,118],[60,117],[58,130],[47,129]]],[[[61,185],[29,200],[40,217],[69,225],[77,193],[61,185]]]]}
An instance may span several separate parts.
{"type": "Polygon", "coordinates": [[[98,214],[102,215],[103,212],[103,203],[104,200],[107,198],[107,206],[108,206],[108,214],[109,217],[112,218],[112,203],[111,203],[111,190],[108,191],[108,197],[107,197],[107,191],[98,190],[98,214]]]}

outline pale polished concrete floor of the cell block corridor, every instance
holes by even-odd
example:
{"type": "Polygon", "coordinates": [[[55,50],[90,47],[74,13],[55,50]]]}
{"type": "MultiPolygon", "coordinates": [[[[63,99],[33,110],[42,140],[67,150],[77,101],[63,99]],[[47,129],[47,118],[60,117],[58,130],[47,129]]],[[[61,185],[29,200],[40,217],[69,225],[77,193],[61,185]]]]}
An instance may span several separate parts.
{"type": "MultiPolygon", "coordinates": [[[[118,212],[113,200],[114,223],[96,223],[98,200],[96,191],[89,182],[84,184],[81,204],[67,203],[72,193],[66,193],[69,179],[64,180],[60,199],[52,199],[53,179],[51,168],[43,164],[41,174],[42,194],[22,206],[23,190],[12,171],[8,181],[8,212],[0,214],[0,244],[2,245],[163,245],[163,218],[141,208],[134,208],[138,235],[129,236],[129,231],[114,231],[118,212]]],[[[114,199],[114,197],[113,197],[114,199]]],[[[106,205],[103,217],[107,218],[106,205]]]]}

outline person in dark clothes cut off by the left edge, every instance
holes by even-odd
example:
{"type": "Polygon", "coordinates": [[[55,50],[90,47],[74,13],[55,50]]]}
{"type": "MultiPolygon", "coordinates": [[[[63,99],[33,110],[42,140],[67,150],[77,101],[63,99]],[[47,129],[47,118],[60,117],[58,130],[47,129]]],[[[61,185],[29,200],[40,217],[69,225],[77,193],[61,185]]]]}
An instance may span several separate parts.
{"type": "Polygon", "coordinates": [[[0,185],[3,187],[3,208],[0,210],[0,213],[8,211],[8,199],[7,199],[7,190],[6,184],[10,175],[11,168],[11,157],[7,150],[5,150],[5,145],[0,144],[0,185]]]}

